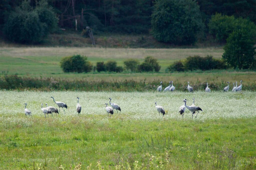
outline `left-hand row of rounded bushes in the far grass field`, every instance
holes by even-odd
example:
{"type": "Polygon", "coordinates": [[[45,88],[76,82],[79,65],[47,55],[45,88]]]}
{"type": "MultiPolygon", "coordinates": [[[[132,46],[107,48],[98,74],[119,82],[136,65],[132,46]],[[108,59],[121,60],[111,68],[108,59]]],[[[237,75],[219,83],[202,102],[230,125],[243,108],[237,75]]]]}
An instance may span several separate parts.
{"type": "MultiPolygon", "coordinates": [[[[161,66],[157,59],[147,56],[141,64],[136,59],[128,59],[124,61],[125,69],[130,71],[138,72],[149,72],[155,71],[159,72],[161,66]]],[[[73,55],[69,57],[64,57],[61,59],[60,67],[64,72],[91,72],[92,70],[97,70],[98,72],[109,71],[109,72],[123,72],[124,68],[118,66],[116,61],[107,61],[107,62],[97,62],[96,66],[93,66],[91,62],[87,61],[86,56],[73,55]]]]}

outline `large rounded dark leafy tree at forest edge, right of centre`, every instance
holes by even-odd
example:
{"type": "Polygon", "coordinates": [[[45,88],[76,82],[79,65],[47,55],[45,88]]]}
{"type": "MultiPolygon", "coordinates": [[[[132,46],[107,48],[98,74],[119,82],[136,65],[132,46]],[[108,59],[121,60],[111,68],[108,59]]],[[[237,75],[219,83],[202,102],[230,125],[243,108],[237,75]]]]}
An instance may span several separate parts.
{"type": "Polygon", "coordinates": [[[151,19],[152,35],[163,42],[192,44],[203,28],[195,1],[156,1],[151,19]]]}

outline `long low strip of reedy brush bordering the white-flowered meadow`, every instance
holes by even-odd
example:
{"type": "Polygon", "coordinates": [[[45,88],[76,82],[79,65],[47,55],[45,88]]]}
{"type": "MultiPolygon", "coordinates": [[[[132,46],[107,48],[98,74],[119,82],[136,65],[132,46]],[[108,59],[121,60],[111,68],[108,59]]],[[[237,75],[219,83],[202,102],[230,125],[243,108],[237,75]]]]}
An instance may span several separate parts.
{"type": "MultiPolygon", "coordinates": [[[[87,81],[87,80],[62,80],[54,78],[29,78],[18,77],[17,75],[4,76],[0,78],[0,88],[6,90],[40,90],[40,91],[54,91],[54,90],[79,90],[79,91],[155,91],[159,86],[160,80],[146,82],[143,81],[87,81]]],[[[205,82],[197,81],[193,84],[194,91],[204,90],[206,88],[205,82]]],[[[163,82],[163,85],[168,86],[169,82],[163,82]]],[[[175,90],[187,91],[187,82],[175,82],[175,90]]],[[[227,84],[225,82],[209,83],[208,86],[212,91],[223,90],[227,84]]],[[[256,83],[243,85],[243,90],[256,90],[256,83]]]]}

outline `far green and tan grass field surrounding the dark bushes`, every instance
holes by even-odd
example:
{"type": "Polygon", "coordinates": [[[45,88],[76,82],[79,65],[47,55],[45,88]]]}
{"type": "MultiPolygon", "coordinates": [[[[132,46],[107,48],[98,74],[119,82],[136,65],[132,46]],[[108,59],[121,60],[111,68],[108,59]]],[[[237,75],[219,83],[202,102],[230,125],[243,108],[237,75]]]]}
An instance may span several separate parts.
{"type": "Polygon", "coordinates": [[[174,61],[185,59],[187,56],[207,54],[215,58],[221,58],[222,48],[199,48],[199,49],[110,49],[110,48],[1,48],[0,51],[0,73],[1,76],[17,74],[28,77],[53,77],[65,79],[86,79],[91,81],[101,80],[135,80],[146,81],[170,80],[184,83],[187,81],[200,82],[244,82],[256,81],[255,72],[237,71],[196,71],[186,73],[165,73],[167,66],[174,61]],[[63,73],[59,66],[62,57],[73,54],[88,56],[88,60],[94,65],[98,61],[115,60],[118,65],[123,66],[127,58],[136,58],[143,61],[145,56],[151,55],[158,59],[162,66],[161,73],[63,73]],[[228,80],[227,80],[228,79],[228,80]]]}

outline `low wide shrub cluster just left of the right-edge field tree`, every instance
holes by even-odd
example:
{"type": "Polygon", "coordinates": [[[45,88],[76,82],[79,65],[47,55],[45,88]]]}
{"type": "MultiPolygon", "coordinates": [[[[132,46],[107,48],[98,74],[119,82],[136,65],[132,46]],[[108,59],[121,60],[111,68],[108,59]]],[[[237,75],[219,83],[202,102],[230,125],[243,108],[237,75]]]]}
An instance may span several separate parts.
{"type": "Polygon", "coordinates": [[[168,67],[169,71],[186,71],[186,70],[212,70],[226,69],[225,61],[214,59],[211,55],[200,57],[199,55],[189,56],[184,61],[177,61],[168,67]]]}

